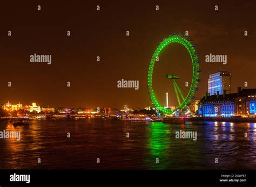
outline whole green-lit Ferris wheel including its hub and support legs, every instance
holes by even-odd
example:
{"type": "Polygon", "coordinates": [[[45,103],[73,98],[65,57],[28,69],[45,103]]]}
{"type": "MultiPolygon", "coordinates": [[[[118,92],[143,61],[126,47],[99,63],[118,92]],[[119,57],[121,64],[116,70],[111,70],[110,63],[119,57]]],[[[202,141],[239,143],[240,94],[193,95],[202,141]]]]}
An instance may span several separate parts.
{"type": "Polygon", "coordinates": [[[186,35],[176,34],[169,35],[169,37],[165,38],[163,41],[160,42],[160,45],[156,48],[156,51],[153,53],[153,56],[150,60],[149,71],[147,73],[147,88],[149,90],[150,99],[152,100],[152,104],[162,113],[164,114],[172,114],[176,111],[182,112],[186,109],[189,110],[189,106],[191,105],[191,99],[195,98],[195,93],[198,91],[197,85],[200,81],[199,73],[201,70],[199,69],[200,60],[198,60],[198,52],[194,49],[196,47],[191,43],[191,40],[187,38],[186,35]],[[176,93],[176,98],[178,101],[178,105],[176,107],[164,107],[160,104],[159,100],[156,97],[156,94],[153,89],[153,70],[155,62],[162,51],[167,45],[171,45],[173,43],[179,43],[183,45],[187,52],[190,55],[191,63],[192,63],[192,80],[190,84],[190,88],[188,89],[187,93],[184,93],[180,90],[180,87],[177,83],[180,76],[173,75],[171,72],[170,74],[165,75],[166,78],[169,78],[173,84],[174,91],[176,93]]]}

